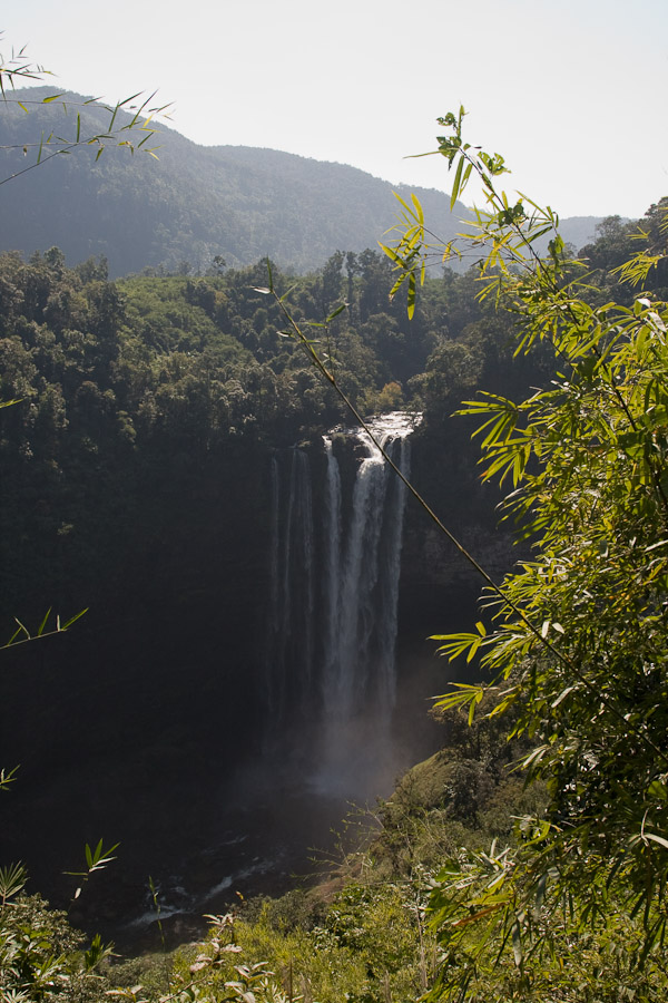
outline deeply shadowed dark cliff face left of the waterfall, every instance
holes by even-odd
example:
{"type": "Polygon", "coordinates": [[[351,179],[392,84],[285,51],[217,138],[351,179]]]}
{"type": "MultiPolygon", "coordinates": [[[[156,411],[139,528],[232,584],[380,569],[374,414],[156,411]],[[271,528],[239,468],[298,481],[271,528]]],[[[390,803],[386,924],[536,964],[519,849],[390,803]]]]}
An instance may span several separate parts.
{"type": "MultiPolygon", "coordinates": [[[[79,869],[82,845],[102,835],[122,841],[132,880],[175,868],[262,744],[266,459],[246,449],[209,457],[197,476],[155,477],[131,535],[96,526],[101,553],[114,553],[106,578],[92,559],[60,568],[56,608],[88,605],[86,616],[4,654],[0,763],[21,770],[2,806],[0,859],[23,859],[56,902],[71,885],[60,873],[79,869]]],[[[51,596],[38,592],[39,581],[43,613],[51,596]]]]}

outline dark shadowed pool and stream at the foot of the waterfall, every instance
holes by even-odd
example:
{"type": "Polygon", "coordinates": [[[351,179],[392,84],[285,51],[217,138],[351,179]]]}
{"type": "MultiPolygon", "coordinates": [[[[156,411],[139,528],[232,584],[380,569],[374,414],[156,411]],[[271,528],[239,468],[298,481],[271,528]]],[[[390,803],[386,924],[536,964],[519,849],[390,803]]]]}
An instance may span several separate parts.
{"type": "MultiPolygon", "coordinates": [[[[215,805],[212,808],[215,815],[215,805]]],[[[340,840],[347,839],[352,848],[351,839],[357,838],[351,836],[346,815],[358,818],[354,828],[363,838],[372,821],[361,807],[314,796],[292,785],[272,791],[258,789],[254,802],[239,802],[234,808],[228,804],[220,811],[217,832],[194,834],[189,850],[170,866],[165,867],[164,861],[160,867],[155,861],[160,874],[155,878],[157,902],[145,879],[131,886],[128,883],[122,903],[115,903],[112,888],[118,886],[109,871],[108,916],[104,916],[102,906],[100,918],[99,903],[94,902],[90,911],[85,907],[81,918],[89,926],[87,913],[97,913],[96,929],[112,938],[122,953],[159,950],[161,936],[168,946],[191,941],[206,928],[206,914],[234,909],[256,895],[282,895],[328,873],[333,861],[341,859],[340,840]]]]}

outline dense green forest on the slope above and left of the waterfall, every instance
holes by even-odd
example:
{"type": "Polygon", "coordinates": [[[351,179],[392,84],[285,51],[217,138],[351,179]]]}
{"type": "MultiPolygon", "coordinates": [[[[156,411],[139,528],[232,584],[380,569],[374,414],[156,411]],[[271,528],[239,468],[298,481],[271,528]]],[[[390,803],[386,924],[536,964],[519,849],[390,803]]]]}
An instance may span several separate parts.
{"type": "MultiPolygon", "coordinates": [[[[326,331],[312,330],[363,412],[416,408],[433,430],[466,388],[529,378],[511,361],[510,319],[477,304],[472,277],[430,280],[411,321],[400,298],[389,300],[391,267],[374,251],[274,277],[293,286],[291,309],[306,329],[348,303],[326,331]]],[[[277,333],[276,305],[253,290],[264,281],[263,262],[112,283],[104,261],[68,269],[57,249],[28,263],[0,257],[0,392],[18,401],[0,439],[6,610],[37,615],[36,583],[61,608],[89,605],[86,590],[72,594],[77,577],[114,580],[128,541],[155,533],[198,471],[346,420],[298,345],[277,333]]]]}

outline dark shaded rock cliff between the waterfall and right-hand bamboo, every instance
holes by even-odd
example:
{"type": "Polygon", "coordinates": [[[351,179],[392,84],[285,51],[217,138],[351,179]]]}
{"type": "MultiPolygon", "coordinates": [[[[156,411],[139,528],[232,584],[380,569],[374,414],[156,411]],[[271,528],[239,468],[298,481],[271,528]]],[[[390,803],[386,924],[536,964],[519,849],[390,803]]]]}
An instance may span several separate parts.
{"type": "MultiPolygon", "coordinates": [[[[520,552],[510,528],[499,526],[497,490],[482,485],[475,444],[456,421],[436,431],[419,429],[412,441],[411,479],[425,501],[456,539],[501,582],[520,552]]],[[[400,707],[414,753],[430,756],[442,743],[441,731],[428,717],[431,698],[453,681],[473,682],[475,665],[438,658],[433,634],[466,631],[480,620],[484,582],[438,528],[409,498],[404,525],[397,662],[400,707]],[[420,742],[422,744],[420,744],[420,742]]],[[[418,756],[414,756],[415,761],[418,756]]]]}

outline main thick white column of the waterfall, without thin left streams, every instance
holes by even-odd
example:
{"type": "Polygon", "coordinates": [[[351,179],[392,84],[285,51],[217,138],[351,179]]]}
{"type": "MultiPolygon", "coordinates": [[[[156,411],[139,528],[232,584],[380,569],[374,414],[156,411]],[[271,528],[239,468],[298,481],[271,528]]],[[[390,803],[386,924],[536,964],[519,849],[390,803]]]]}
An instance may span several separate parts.
{"type": "MultiPolygon", "coordinates": [[[[372,419],[370,429],[404,476],[414,423],[401,412],[372,419]]],[[[330,516],[328,547],[336,555],[330,578],[323,660],[323,721],[316,788],[369,793],[383,773],[393,775],[392,710],[405,486],[362,429],[346,429],[365,449],[357,467],[348,525],[330,516]]],[[[327,439],[328,437],[325,437],[327,439]]],[[[325,441],[327,449],[327,442],[325,441]]],[[[327,449],[327,481],[338,486],[337,460],[327,449]]],[[[328,513],[341,509],[337,504],[328,513]]]]}

